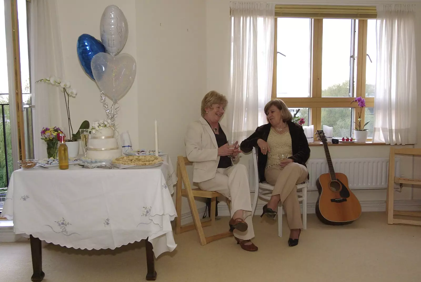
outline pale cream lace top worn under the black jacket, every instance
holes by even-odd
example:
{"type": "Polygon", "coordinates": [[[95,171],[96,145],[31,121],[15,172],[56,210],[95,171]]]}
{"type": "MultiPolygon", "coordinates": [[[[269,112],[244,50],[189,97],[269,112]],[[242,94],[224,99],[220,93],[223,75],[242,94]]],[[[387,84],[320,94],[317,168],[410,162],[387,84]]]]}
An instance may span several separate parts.
{"type": "Polygon", "coordinates": [[[277,134],[273,128],[270,129],[267,143],[270,148],[270,153],[267,156],[265,169],[274,165],[280,164],[282,159],[292,156],[292,142],[289,131],[284,134],[277,134]]]}

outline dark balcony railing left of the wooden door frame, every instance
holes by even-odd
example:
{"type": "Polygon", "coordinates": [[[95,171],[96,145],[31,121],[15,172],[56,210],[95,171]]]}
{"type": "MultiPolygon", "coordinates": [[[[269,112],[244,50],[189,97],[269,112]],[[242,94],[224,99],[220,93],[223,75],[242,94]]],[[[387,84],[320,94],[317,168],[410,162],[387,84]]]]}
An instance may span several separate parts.
{"type": "Polygon", "coordinates": [[[13,172],[12,140],[9,104],[0,104],[0,211],[6,198],[9,179],[13,172]]]}

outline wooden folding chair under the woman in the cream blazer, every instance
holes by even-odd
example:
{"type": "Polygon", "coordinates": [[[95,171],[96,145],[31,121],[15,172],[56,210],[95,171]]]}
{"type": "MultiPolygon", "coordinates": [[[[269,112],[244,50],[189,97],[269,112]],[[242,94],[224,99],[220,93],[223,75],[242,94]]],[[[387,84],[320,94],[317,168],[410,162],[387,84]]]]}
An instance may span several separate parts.
{"type": "MultiPolygon", "coordinates": [[[[209,242],[212,242],[216,239],[221,239],[224,237],[232,236],[232,232],[224,232],[221,234],[216,234],[213,236],[205,237],[203,233],[203,227],[210,226],[215,223],[215,212],[216,212],[216,197],[222,197],[224,195],[213,192],[213,191],[203,191],[200,189],[192,189],[190,185],[189,176],[187,175],[186,164],[192,164],[186,157],[178,156],[177,158],[177,186],[176,186],[176,234],[183,233],[192,229],[196,229],[197,235],[199,235],[200,244],[205,245],[209,242]],[[184,183],[184,189],[182,189],[184,183]],[[193,224],[188,224],[181,226],[181,197],[187,196],[190,204],[190,210],[192,211],[193,224]],[[200,222],[199,213],[197,212],[195,197],[202,198],[211,198],[210,202],[210,220],[200,222]]],[[[229,200],[227,199],[228,207],[229,200]]],[[[231,209],[229,207],[229,209],[231,209]]]]}

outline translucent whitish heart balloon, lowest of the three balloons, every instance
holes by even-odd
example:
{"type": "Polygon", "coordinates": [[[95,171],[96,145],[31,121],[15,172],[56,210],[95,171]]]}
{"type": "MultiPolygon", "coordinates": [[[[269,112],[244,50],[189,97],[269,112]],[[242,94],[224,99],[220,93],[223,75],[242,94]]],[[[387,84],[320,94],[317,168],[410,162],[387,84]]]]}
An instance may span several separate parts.
{"type": "Polygon", "coordinates": [[[113,102],[117,102],[133,85],[136,61],[125,53],[117,56],[98,53],[92,58],[91,69],[99,89],[113,102]]]}

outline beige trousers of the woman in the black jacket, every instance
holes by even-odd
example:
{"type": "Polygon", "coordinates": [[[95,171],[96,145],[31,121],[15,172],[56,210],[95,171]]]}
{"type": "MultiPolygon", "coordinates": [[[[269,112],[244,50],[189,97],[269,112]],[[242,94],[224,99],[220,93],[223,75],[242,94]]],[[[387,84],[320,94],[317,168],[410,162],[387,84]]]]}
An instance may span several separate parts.
{"type": "Polygon", "coordinates": [[[308,174],[307,168],[297,163],[289,163],[283,169],[278,166],[269,167],[264,172],[266,182],[274,185],[272,196],[279,194],[281,197],[290,229],[303,228],[297,184],[306,180],[308,174]]]}

